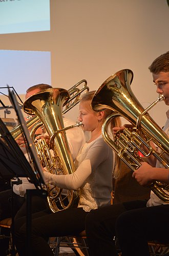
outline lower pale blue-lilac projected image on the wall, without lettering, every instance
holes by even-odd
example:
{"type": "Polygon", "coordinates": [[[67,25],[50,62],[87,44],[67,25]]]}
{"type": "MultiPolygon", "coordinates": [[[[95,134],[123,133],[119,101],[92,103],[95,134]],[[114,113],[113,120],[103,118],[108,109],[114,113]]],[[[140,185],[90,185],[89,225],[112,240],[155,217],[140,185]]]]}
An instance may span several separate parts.
{"type": "Polygon", "coordinates": [[[0,50],[0,69],[0,97],[8,95],[7,85],[25,94],[34,84],[51,84],[51,53],[0,50]]]}

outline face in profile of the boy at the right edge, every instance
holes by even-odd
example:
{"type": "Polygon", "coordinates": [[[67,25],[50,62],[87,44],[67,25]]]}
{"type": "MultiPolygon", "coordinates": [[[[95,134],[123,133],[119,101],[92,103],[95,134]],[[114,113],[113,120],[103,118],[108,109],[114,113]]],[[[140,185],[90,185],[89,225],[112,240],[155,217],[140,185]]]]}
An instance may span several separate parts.
{"type": "Polygon", "coordinates": [[[163,94],[165,104],[169,106],[169,72],[153,73],[153,81],[157,86],[157,93],[163,94]]]}

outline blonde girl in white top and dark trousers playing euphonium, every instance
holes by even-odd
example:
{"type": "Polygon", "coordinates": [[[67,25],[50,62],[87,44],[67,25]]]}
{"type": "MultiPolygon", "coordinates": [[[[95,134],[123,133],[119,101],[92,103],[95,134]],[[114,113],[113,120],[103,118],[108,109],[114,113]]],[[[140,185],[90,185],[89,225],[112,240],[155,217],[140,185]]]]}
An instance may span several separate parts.
{"type": "MultiPolygon", "coordinates": [[[[68,175],[44,172],[47,182],[52,185],[69,190],[80,189],[79,204],[55,213],[48,209],[32,214],[30,256],[53,256],[48,244],[50,236],[78,235],[85,229],[85,218],[90,211],[111,204],[113,152],[102,138],[101,127],[112,111],[93,111],[93,95],[94,92],[88,92],[80,99],[78,120],[83,123],[84,131],[91,131],[91,138],[77,155],[75,172],[68,175]]],[[[119,118],[114,122],[117,126],[119,118]]],[[[26,233],[25,216],[15,218],[15,242],[19,256],[26,254],[26,233]]]]}

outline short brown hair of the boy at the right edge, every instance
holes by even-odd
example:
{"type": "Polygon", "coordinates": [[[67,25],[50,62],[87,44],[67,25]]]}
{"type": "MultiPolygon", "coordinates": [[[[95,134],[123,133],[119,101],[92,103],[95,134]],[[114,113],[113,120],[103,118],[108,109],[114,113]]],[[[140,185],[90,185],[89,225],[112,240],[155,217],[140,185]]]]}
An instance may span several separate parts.
{"type": "Polygon", "coordinates": [[[169,72],[169,51],[157,57],[149,66],[151,73],[169,72]]]}

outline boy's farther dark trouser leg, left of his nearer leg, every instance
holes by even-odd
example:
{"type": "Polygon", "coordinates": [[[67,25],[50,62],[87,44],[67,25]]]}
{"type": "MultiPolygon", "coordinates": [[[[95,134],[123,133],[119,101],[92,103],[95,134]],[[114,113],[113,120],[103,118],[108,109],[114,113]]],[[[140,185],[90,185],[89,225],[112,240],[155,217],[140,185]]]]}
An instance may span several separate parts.
{"type": "Polygon", "coordinates": [[[116,235],[117,218],[123,212],[145,207],[146,200],[137,200],[113,204],[91,211],[86,217],[87,243],[90,256],[115,256],[116,248],[113,238],[116,235]]]}

